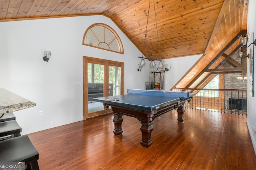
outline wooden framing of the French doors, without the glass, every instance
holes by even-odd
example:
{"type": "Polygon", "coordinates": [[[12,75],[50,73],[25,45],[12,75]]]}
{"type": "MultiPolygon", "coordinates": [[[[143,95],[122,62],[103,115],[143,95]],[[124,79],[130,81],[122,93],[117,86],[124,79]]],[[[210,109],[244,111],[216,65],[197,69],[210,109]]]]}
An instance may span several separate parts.
{"type": "MultiPolygon", "coordinates": [[[[83,56],[83,117],[84,119],[88,118],[88,63],[94,63],[94,64],[101,64],[104,65],[104,96],[108,95],[107,89],[108,87],[108,67],[109,65],[113,65],[116,67],[121,67],[121,82],[120,82],[120,93],[121,95],[124,94],[124,63],[118,62],[118,61],[111,61],[106,59],[99,59],[99,58],[93,58],[93,57],[86,57],[83,56]]],[[[108,112],[105,110],[99,111],[97,113],[93,113],[90,117],[98,116],[99,114],[105,114],[109,113],[112,110],[109,109],[108,112]]]]}

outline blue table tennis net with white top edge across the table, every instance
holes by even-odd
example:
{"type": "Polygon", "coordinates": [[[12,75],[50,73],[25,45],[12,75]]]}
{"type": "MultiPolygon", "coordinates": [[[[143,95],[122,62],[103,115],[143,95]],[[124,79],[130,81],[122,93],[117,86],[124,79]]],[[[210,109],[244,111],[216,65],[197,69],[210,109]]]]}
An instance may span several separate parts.
{"type": "Polygon", "coordinates": [[[164,96],[164,97],[189,97],[189,92],[186,91],[156,91],[156,90],[140,90],[128,89],[128,94],[164,96]]]}

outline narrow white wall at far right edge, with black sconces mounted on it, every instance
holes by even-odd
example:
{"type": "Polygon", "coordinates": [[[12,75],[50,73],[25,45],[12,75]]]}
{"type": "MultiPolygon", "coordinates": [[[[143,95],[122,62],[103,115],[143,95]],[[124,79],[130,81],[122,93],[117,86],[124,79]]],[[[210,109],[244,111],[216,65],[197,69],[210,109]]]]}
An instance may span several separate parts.
{"type": "MultiPolygon", "coordinates": [[[[249,0],[248,1],[248,18],[247,18],[247,33],[250,34],[250,43],[252,43],[256,39],[256,21],[255,21],[255,16],[256,16],[256,1],[255,0],[249,0]],[[251,35],[254,33],[254,40],[252,40],[251,35]]],[[[247,53],[250,53],[250,48],[254,48],[254,84],[256,81],[256,47],[255,45],[250,45],[247,49],[247,53]]],[[[251,56],[250,56],[251,57],[251,56]]],[[[256,89],[254,85],[254,97],[250,95],[250,80],[249,80],[249,75],[250,75],[250,62],[247,60],[247,76],[248,76],[248,94],[247,94],[247,107],[248,107],[248,115],[247,115],[247,126],[250,132],[250,136],[252,138],[252,144],[254,147],[254,151],[256,154],[256,131],[252,130],[252,126],[256,124],[256,89]]]]}

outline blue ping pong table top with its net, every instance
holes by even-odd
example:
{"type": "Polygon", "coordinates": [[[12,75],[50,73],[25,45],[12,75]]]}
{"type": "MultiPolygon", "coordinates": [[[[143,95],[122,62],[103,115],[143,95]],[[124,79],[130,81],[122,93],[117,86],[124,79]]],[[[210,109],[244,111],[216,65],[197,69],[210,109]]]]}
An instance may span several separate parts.
{"type": "Polygon", "coordinates": [[[153,111],[170,105],[171,103],[188,99],[189,97],[188,92],[128,89],[128,94],[126,95],[98,97],[94,98],[93,101],[110,106],[130,107],[132,109],[153,111]]]}

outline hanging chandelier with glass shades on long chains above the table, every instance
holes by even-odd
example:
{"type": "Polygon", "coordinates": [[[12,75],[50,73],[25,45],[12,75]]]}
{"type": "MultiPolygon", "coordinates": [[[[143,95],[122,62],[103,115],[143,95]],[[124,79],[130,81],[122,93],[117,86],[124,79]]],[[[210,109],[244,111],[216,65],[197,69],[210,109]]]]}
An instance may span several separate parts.
{"type": "MultiPolygon", "coordinates": [[[[156,20],[156,7],[155,7],[155,0],[153,2],[154,4],[154,13],[155,13],[155,20],[156,20]]],[[[161,53],[160,53],[160,42],[159,42],[159,37],[158,37],[158,29],[157,29],[157,22],[156,22],[156,34],[157,34],[157,41],[158,41],[158,47],[159,47],[159,55],[160,55],[160,60],[158,59],[154,59],[153,58],[153,54],[151,54],[151,58],[148,58],[148,57],[143,57],[143,54],[144,54],[144,49],[145,49],[145,42],[146,42],[146,36],[147,36],[147,30],[148,30],[148,18],[149,18],[149,10],[150,10],[150,0],[149,0],[149,6],[148,6],[148,17],[147,17],[147,24],[146,24],[146,32],[145,32],[145,38],[144,38],[144,45],[143,45],[143,51],[142,51],[142,57],[139,57],[139,58],[142,58],[139,62],[139,67],[140,69],[138,69],[138,71],[142,69],[142,67],[146,67],[146,63],[145,63],[145,59],[150,59],[152,60],[150,62],[150,68],[157,68],[157,69],[164,69],[164,64],[163,64],[163,61],[161,60],[161,53]],[[156,63],[154,62],[154,60],[157,60],[157,61],[160,61],[160,63],[158,64],[158,67],[156,67],[156,63]]]]}

